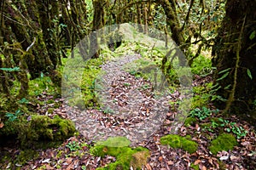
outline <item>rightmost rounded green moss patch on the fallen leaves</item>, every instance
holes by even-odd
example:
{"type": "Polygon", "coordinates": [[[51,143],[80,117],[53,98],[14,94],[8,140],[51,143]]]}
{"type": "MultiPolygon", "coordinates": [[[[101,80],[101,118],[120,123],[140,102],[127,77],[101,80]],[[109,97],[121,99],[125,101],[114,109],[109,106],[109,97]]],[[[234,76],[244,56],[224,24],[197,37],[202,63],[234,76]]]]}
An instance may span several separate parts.
{"type": "Polygon", "coordinates": [[[222,133],[218,135],[217,139],[212,140],[209,150],[212,154],[216,155],[218,151],[221,150],[233,150],[236,145],[237,141],[234,135],[230,133],[222,133]]]}

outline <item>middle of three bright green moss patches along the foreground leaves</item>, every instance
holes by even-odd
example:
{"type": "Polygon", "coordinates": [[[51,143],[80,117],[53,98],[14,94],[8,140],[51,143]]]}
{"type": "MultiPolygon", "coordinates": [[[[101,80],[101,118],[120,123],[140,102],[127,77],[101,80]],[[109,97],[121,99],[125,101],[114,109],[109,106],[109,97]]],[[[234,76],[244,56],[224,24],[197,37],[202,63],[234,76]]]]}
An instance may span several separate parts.
{"type": "Polygon", "coordinates": [[[160,138],[160,143],[168,144],[172,148],[181,148],[188,151],[190,154],[194,153],[198,147],[198,144],[192,141],[188,135],[182,137],[177,134],[168,134],[160,138]]]}

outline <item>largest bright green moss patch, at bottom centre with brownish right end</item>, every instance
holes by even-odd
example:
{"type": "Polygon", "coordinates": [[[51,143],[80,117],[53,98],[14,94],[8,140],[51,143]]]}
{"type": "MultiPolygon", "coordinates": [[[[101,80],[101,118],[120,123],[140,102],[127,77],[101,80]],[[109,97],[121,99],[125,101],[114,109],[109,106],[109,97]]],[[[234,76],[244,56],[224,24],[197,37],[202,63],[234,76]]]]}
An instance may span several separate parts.
{"type": "Polygon", "coordinates": [[[133,169],[141,169],[143,165],[147,163],[147,159],[149,154],[149,151],[143,147],[137,147],[135,149],[132,149],[127,145],[127,139],[125,140],[123,137],[117,137],[108,139],[107,143],[105,144],[114,144],[117,141],[122,140],[123,144],[122,147],[111,147],[106,145],[98,145],[94,146],[90,149],[90,153],[92,153],[95,156],[115,156],[116,161],[113,163],[109,163],[106,167],[100,167],[97,168],[98,170],[101,169],[130,169],[130,167],[133,167],[133,169]]]}

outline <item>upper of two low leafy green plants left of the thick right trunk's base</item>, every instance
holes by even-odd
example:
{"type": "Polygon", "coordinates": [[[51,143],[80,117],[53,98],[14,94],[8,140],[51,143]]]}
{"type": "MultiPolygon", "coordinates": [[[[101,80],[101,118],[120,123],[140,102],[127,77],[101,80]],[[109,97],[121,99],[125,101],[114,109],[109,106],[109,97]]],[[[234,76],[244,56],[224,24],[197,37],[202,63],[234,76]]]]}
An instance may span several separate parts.
{"type": "Polygon", "coordinates": [[[195,108],[193,111],[190,111],[189,116],[197,117],[199,120],[204,120],[209,116],[212,116],[212,113],[218,113],[218,110],[210,110],[207,107],[202,107],[201,109],[195,108]]]}

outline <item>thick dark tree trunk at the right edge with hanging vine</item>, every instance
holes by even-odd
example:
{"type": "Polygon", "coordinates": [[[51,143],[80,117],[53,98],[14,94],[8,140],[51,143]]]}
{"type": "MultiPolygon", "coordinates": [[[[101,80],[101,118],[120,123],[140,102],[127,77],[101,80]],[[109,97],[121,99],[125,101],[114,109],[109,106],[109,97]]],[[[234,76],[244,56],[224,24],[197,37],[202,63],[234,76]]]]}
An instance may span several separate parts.
{"type": "Polygon", "coordinates": [[[227,99],[216,105],[244,115],[253,113],[256,107],[255,8],[255,0],[227,1],[212,53],[212,65],[217,67],[215,84],[220,87],[217,94],[227,99]]]}

